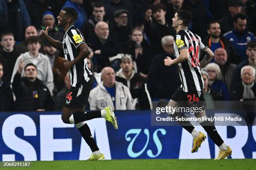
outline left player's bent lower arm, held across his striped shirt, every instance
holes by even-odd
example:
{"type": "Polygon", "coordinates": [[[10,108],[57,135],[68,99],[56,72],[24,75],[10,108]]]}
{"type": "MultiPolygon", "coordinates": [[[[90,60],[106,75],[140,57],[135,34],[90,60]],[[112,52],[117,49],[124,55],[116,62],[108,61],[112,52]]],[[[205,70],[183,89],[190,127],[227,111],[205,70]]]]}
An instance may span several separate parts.
{"type": "Polygon", "coordinates": [[[91,53],[91,50],[86,45],[86,43],[82,43],[81,45],[79,45],[79,50],[80,50],[79,55],[74,60],[72,61],[65,60],[66,62],[64,62],[64,67],[66,69],[71,68],[79,60],[84,60],[91,53]]]}

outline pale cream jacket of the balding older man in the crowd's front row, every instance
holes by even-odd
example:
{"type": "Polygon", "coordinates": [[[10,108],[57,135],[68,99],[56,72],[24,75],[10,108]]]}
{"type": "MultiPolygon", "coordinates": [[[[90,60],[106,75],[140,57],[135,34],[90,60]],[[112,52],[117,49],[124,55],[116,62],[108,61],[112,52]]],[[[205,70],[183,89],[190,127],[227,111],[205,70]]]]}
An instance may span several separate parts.
{"type": "Polygon", "coordinates": [[[103,81],[92,89],[89,96],[90,110],[102,110],[107,106],[115,110],[135,110],[129,89],[121,82],[115,82],[115,107],[103,81]]]}

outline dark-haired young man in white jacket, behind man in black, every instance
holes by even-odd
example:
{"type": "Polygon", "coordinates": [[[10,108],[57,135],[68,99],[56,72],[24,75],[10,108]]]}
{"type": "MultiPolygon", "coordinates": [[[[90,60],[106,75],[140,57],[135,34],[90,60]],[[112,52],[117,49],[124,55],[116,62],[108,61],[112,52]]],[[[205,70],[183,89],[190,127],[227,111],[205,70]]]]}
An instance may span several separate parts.
{"type": "MultiPolygon", "coordinates": [[[[51,70],[51,63],[48,57],[38,52],[41,47],[40,38],[37,36],[28,37],[27,39],[28,52],[21,54],[14,65],[13,75],[11,82],[13,82],[13,77],[16,74],[20,61],[23,61],[23,64],[33,63],[37,67],[37,77],[40,79],[52,93],[54,88],[53,83],[53,74],[51,70]]],[[[25,70],[21,70],[21,77],[24,76],[25,70]]]]}

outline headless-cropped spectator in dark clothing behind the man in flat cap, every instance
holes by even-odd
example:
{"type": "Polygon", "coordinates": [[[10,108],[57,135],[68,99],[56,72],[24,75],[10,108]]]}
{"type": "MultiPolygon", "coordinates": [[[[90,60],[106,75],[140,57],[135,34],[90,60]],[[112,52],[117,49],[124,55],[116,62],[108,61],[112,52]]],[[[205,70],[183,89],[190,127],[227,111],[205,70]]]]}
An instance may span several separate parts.
{"type": "Polygon", "coordinates": [[[136,16],[134,15],[135,11],[134,11],[132,0],[101,0],[101,2],[103,2],[105,6],[106,15],[110,25],[113,25],[113,23],[115,22],[114,21],[115,11],[124,9],[129,12],[128,23],[133,28],[134,18],[136,16]]]}

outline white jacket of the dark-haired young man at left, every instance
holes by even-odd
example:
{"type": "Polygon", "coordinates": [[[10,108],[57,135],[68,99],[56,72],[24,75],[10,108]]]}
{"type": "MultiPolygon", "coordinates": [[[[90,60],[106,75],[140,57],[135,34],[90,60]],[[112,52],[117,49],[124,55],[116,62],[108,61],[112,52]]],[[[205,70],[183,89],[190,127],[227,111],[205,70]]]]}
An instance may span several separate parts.
{"type": "MultiPolygon", "coordinates": [[[[13,75],[11,78],[11,82],[13,82],[13,77],[18,70],[21,58],[24,59],[23,63],[25,65],[27,65],[28,63],[33,63],[34,65],[36,65],[37,72],[38,72],[37,78],[44,82],[44,84],[48,87],[49,91],[52,94],[52,90],[54,89],[54,82],[53,82],[53,73],[51,70],[51,62],[46,55],[44,55],[40,52],[39,52],[38,57],[36,57],[36,58],[31,57],[28,52],[21,54],[17,58],[14,68],[13,68],[13,75]]],[[[24,69],[22,69],[21,77],[24,77],[24,74],[25,74],[24,69]]]]}

